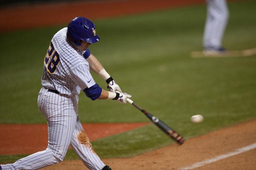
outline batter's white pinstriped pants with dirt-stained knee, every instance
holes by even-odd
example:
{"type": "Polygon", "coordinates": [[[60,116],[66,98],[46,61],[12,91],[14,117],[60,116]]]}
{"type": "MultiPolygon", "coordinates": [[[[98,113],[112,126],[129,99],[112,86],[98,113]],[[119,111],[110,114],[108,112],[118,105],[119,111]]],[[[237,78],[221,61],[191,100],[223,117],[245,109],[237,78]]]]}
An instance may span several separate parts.
{"type": "Polygon", "coordinates": [[[67,98],[42,87],[38,95],[38,106],[47,119],[47,149],[13,164],[1,165],[3,170],[35,170],[62,162],[70,145],[90,170],[101,170],[105,166],[92,149],[79,121],[77,95],[67,98]]]}

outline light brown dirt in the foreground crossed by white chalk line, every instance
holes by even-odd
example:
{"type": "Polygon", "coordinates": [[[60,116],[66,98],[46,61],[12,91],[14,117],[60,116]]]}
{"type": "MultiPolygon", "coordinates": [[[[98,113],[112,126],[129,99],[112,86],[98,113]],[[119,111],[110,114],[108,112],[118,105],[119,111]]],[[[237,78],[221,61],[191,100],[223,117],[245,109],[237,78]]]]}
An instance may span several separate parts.
{"type": "MultiPolygon", "coordinates": [[[[256,119],[194,137],[181,146],[176,144],[130,158],[103,159],[113,170],[178,170],[197,162],[227,154],[256,143],[256,119]]],[[[195,170],[255,170],[256,149],[227,157],[195,170]]],[[[81,160],[66,160],[45,170],[78,170],[81,160]]],[[[86,168],[85,168],[86,169],[86,168]]]]}

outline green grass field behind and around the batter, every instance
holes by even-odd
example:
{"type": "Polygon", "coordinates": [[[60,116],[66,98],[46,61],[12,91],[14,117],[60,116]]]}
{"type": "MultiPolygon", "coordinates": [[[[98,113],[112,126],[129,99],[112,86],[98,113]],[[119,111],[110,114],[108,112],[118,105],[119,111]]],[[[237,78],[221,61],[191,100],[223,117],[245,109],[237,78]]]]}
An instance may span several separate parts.
{"type": "MultiPolygon", "coordinates": [[[[230,2],[223,39],[228,49],[256,47],[255,1],[230,2]],[[239,11],[239,13],[237,12],[239,11]]],[[[203,5],[96,20],[90,51],[122,90],[186,138],[256,118],[256,56],[192,59],[202,49],[203,5]],[[192,124],[190,116],[203,114],[192,124]]],[[[45,123],[37,108],[43,59],[59,27],[0,34],[0,123],[45,123]]],[[[105,82],[93,74],[96,82],[105,82]]],[[[82,122],[148,121],[130,105],[79,96],[82,122]]],[[[101,157],[128,157],[173,141],[154,125],[93,141],[101,157]]],[[[22,156],[0,156],[1,163],[22,156]]],[[[65,159],[76,159],[68,151],[65,159]]]]}

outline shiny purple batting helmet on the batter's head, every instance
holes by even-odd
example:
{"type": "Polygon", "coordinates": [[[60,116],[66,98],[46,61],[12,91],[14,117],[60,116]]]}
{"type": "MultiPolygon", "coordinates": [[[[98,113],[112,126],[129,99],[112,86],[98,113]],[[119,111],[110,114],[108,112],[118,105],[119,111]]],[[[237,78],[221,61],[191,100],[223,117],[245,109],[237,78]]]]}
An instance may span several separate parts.
{"type": "Polygon", "coordinates": [[[66,36],[74,46],[80,46],[81,40],[87,43],[96,43],[100,40],[93,22],[84,17],[76,17],[70,21],[66,36]]]}

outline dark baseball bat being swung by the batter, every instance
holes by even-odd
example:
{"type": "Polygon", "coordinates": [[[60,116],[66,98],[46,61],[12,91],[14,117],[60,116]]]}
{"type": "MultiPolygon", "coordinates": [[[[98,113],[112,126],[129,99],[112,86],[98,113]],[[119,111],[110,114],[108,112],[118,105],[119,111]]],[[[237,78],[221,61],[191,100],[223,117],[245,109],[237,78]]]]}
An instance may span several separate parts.
{"type": "Polygon", "coordinates": [[[149,118],[156,126],[158,126],[162,131],[164,131],[169,137],[175,140],[178,144],[182,145],[184,143],[185,138],[181,137],[181,135],[179,135],[175,130],[173,130],[171,127],[165,124],[165,122],[161,121],[156,116],[148,113],[146,110],[144,110],[139,105],[134,103],[131,99],[127,99],[127,102],[131,103],[131,105],[133,105],[142,113],[144,113],[147,116],[147,118],[149,118]]]}

